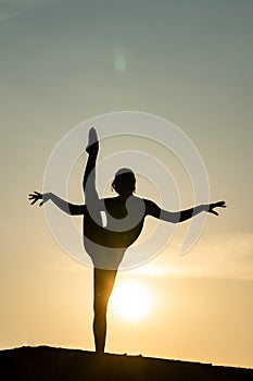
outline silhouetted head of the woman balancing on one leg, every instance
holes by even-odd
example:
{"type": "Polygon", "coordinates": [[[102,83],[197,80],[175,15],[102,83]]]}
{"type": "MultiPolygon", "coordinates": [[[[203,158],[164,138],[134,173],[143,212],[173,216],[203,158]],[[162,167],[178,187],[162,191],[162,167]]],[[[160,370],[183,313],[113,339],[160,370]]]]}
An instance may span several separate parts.
{"type": "Polygon", "coordinates": [[[113,189],[119,196],[130,196],[136,190],[135,173],[128,168],[122,168],[115,173],[113,189]]]}

